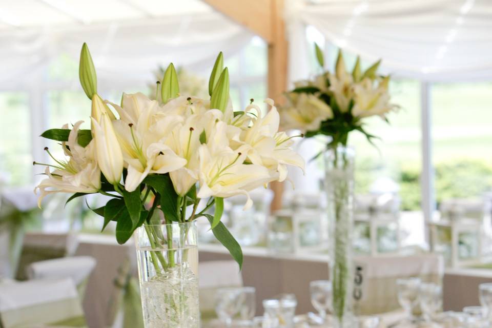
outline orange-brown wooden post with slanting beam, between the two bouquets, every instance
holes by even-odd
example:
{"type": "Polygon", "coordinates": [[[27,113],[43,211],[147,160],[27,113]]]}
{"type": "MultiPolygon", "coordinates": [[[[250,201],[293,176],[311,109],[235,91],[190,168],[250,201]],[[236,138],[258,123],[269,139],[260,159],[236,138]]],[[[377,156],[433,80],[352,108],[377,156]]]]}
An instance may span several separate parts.
{"type": "MultiPolygon", "coordinates": [[[[287,87],[288,43],[284,0],[203,0],[217,11],[261,36],[268,44],[268,96],[281,104],[287,87]]],[[[282,207],[283,183],[273,182],[272,210],[282,207]]]]}

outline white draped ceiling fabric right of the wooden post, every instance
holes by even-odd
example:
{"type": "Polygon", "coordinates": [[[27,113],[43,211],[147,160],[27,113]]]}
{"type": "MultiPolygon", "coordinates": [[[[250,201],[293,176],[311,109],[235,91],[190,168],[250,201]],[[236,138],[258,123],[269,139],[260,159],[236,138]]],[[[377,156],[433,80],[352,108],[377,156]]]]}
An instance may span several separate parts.
{"type": "MultiPolygon", "coordinates": [[[[291,43],[301,42],[296,26],[312,25],[337,47],[368,61],[382,58],[383,68],[395,75],[427,81],[492,80],[490,0],[292,0],[288,4],[291,43]]],[[[299,63],[301,58],[294,51],[291,59],[299,63]]],[[[299,69],[292,61],[295,76],[299,69]]]]}

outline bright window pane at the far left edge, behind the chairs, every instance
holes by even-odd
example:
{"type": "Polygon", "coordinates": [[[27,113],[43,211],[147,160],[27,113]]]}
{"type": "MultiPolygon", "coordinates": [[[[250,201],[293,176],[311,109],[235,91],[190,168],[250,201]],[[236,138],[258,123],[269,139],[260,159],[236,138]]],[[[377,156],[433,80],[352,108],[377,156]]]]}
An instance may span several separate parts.
{"type": "Polygon", "coordinates": [[[27,185],[32,181],[29,96],[0,93],[0,186],[27,185]]]}

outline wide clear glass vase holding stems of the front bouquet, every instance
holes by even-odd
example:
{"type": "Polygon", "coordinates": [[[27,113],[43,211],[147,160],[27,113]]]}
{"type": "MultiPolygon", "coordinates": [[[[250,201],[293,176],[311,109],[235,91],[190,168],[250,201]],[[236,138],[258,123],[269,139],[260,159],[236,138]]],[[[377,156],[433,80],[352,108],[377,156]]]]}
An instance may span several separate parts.
{"type": "Polygon", "coordinates": [[[198,328],[196,223],[144,224],[135,235],[145,328],[198,328]]]}

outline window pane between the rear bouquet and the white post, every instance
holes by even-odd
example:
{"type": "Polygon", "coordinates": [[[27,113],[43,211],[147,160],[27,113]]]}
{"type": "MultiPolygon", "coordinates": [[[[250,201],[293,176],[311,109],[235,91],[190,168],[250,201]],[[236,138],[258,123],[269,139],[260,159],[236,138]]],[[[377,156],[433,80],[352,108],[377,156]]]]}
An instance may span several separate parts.
{"type": "Polygon", "coordinates": [[[390,178],[399,185],[402,210],[419,210],[419,84],[410,80],[392,81],[390,92],[392,102],[400,105],[401,109],[387,115],[389,123],[380,117],[366,120],[366,131],[380,138],[374,140],[376,147],[369,144],[360,133],[354,132],[350,137],[349,142],[357,151],[356,190],[367,193],[374,188],[383,188],[383,183],[390,178]]]}

